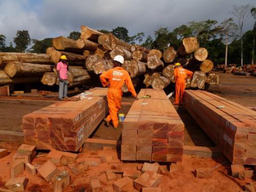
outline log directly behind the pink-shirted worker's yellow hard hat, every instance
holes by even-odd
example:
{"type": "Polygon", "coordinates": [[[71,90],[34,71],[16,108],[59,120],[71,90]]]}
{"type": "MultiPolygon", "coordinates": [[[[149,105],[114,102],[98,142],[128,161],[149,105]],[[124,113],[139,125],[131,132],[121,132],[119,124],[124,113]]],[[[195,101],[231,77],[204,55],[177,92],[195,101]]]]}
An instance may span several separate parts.
{"type": "Polygon", "coordinates": [[[69,53],[64,51],[57,51],[53,47],[47,48],[46,53],[51,57],[51,59],[55,64],[59,62],[61,55],[67,56],[69,65],[83,66],[87,58],[86,56],[83,56],[83,55],[77,55],[74,53],[69,53]]]}

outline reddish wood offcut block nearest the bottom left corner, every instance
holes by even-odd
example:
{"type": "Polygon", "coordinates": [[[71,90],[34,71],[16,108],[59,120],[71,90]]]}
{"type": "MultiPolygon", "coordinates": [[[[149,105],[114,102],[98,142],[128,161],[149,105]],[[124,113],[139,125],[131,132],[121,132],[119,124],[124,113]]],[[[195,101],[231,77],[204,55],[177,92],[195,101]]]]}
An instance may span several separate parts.
{"type": "Polygon", "coordinates": [[[11,191],[25,191],[28,183],[26,177],[11,178],[5,183],[5,186],[11,191]]]}

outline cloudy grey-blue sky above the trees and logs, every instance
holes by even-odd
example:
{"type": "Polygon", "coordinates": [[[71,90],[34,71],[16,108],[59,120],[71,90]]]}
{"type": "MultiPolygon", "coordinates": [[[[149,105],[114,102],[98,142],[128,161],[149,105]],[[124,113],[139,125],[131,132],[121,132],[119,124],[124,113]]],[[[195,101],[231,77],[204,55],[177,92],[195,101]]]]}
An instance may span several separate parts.
{"type": "MultiPolygon", "coordinates": [[[[153,35],[160,27],[173,30],[190,21],[231,17],[233,5],[255,0],[0,0],[0,34],[13,40],[17,30],[28,30],[32,39],[68,36],[81,25],[111,30],[125,27],[130,35],[153,35]]],[[[244,30],[252,29],[253,19],[244,30]]]]}

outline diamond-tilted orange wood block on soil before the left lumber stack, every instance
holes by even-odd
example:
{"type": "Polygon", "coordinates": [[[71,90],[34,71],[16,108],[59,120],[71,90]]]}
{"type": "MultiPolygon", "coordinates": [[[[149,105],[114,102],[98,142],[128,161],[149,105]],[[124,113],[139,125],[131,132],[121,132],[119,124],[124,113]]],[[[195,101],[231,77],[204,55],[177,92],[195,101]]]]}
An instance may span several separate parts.
{"type": "Polygon", "coordinates": [[[58,170],[51,161],[47,161],[37,169],[38,173],[46,180],[50,181],[57,174],[58,170]]]}

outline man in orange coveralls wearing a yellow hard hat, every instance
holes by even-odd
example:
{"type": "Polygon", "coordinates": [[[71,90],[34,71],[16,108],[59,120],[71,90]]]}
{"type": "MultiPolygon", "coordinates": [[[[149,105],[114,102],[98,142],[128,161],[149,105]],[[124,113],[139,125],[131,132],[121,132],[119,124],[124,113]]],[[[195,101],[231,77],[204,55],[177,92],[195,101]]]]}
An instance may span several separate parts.
{"type": "Polygon", "coordinates": [[[184,90],[186,87],[186,79],[190,79],[192,76],[193,72],[184,69],[178,62],[175,64],[175,105],[182,104],[184,90]]]}

